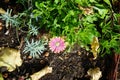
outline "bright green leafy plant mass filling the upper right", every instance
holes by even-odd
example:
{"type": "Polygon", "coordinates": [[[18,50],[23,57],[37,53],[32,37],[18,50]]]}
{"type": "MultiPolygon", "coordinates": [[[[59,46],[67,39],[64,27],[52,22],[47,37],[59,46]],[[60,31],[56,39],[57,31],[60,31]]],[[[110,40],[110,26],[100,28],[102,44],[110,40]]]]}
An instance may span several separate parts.
{"type": "Polygon", "coordinates": [[[36,1],[35,6],[33,13],[41,17],[40,27],[53,36],[65,36],[70,46],[79,43],[89,48],[97,36],[101,53],[111,53],[111,48],[120,51],[119,14],[114,13],[110,0],[47,0],[36,1]]]}

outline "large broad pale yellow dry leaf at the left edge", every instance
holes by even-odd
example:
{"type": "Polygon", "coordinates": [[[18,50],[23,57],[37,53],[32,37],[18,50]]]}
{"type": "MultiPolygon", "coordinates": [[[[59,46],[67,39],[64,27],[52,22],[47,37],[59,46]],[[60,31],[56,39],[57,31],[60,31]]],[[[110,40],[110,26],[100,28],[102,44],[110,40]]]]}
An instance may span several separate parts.
{"type": "Polygon", "coordinates": [[[7,67],[8,71],[13,71],[17,66],[21,66],[20,50],[8,47],[0,48],[0,67],[7,67]]]}

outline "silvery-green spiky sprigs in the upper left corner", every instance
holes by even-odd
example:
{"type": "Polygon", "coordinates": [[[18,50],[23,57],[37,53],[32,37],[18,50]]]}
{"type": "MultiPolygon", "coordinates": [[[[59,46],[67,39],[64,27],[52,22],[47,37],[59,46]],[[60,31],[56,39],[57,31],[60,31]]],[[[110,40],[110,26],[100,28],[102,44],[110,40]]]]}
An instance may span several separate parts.
{"type": "Polygon", "coordinates": [[[39,32],[36,25],[36,18],[32,16],[32,13],[29,13],[30,10],[26,10],[22,13],[18,13],[17,15],[12,15],[12,10],[7,10],[5,14],[1,14],[0,18],[5,21],[5,27],[13,27],[16,28],[16,36],[18,37],[18,30],[21,30],[22,27],[27,27],[27,37],[36,36],[39,32]],[[29,14],[29,15],[28,15],[29,14]],[[24,18],[24,19],[23,19],[24,18]]]}

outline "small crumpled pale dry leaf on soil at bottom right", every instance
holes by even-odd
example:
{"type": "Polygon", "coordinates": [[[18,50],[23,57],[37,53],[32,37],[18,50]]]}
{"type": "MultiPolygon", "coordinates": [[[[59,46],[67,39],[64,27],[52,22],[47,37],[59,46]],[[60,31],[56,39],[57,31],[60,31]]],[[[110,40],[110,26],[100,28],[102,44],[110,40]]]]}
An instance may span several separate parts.
{"type": "Polygon", "coordinates": [[[102,72],[100,71],[99,67],[90,68],[87,71],[87,74],[91,77],[90,80],[99,80],[102,77],[102,72]]]}

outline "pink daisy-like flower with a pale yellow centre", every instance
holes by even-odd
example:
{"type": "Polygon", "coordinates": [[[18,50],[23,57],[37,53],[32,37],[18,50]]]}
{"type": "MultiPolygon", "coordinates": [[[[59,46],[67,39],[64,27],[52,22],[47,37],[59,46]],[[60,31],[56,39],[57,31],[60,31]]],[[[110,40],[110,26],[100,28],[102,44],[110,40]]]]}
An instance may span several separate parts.
{"type": "Polygon", "coordinates": [[[54,53],[60,53],[66,48],[64,39],[61,37],[54,37],[49,42],[49,48],[54,53]]]}

